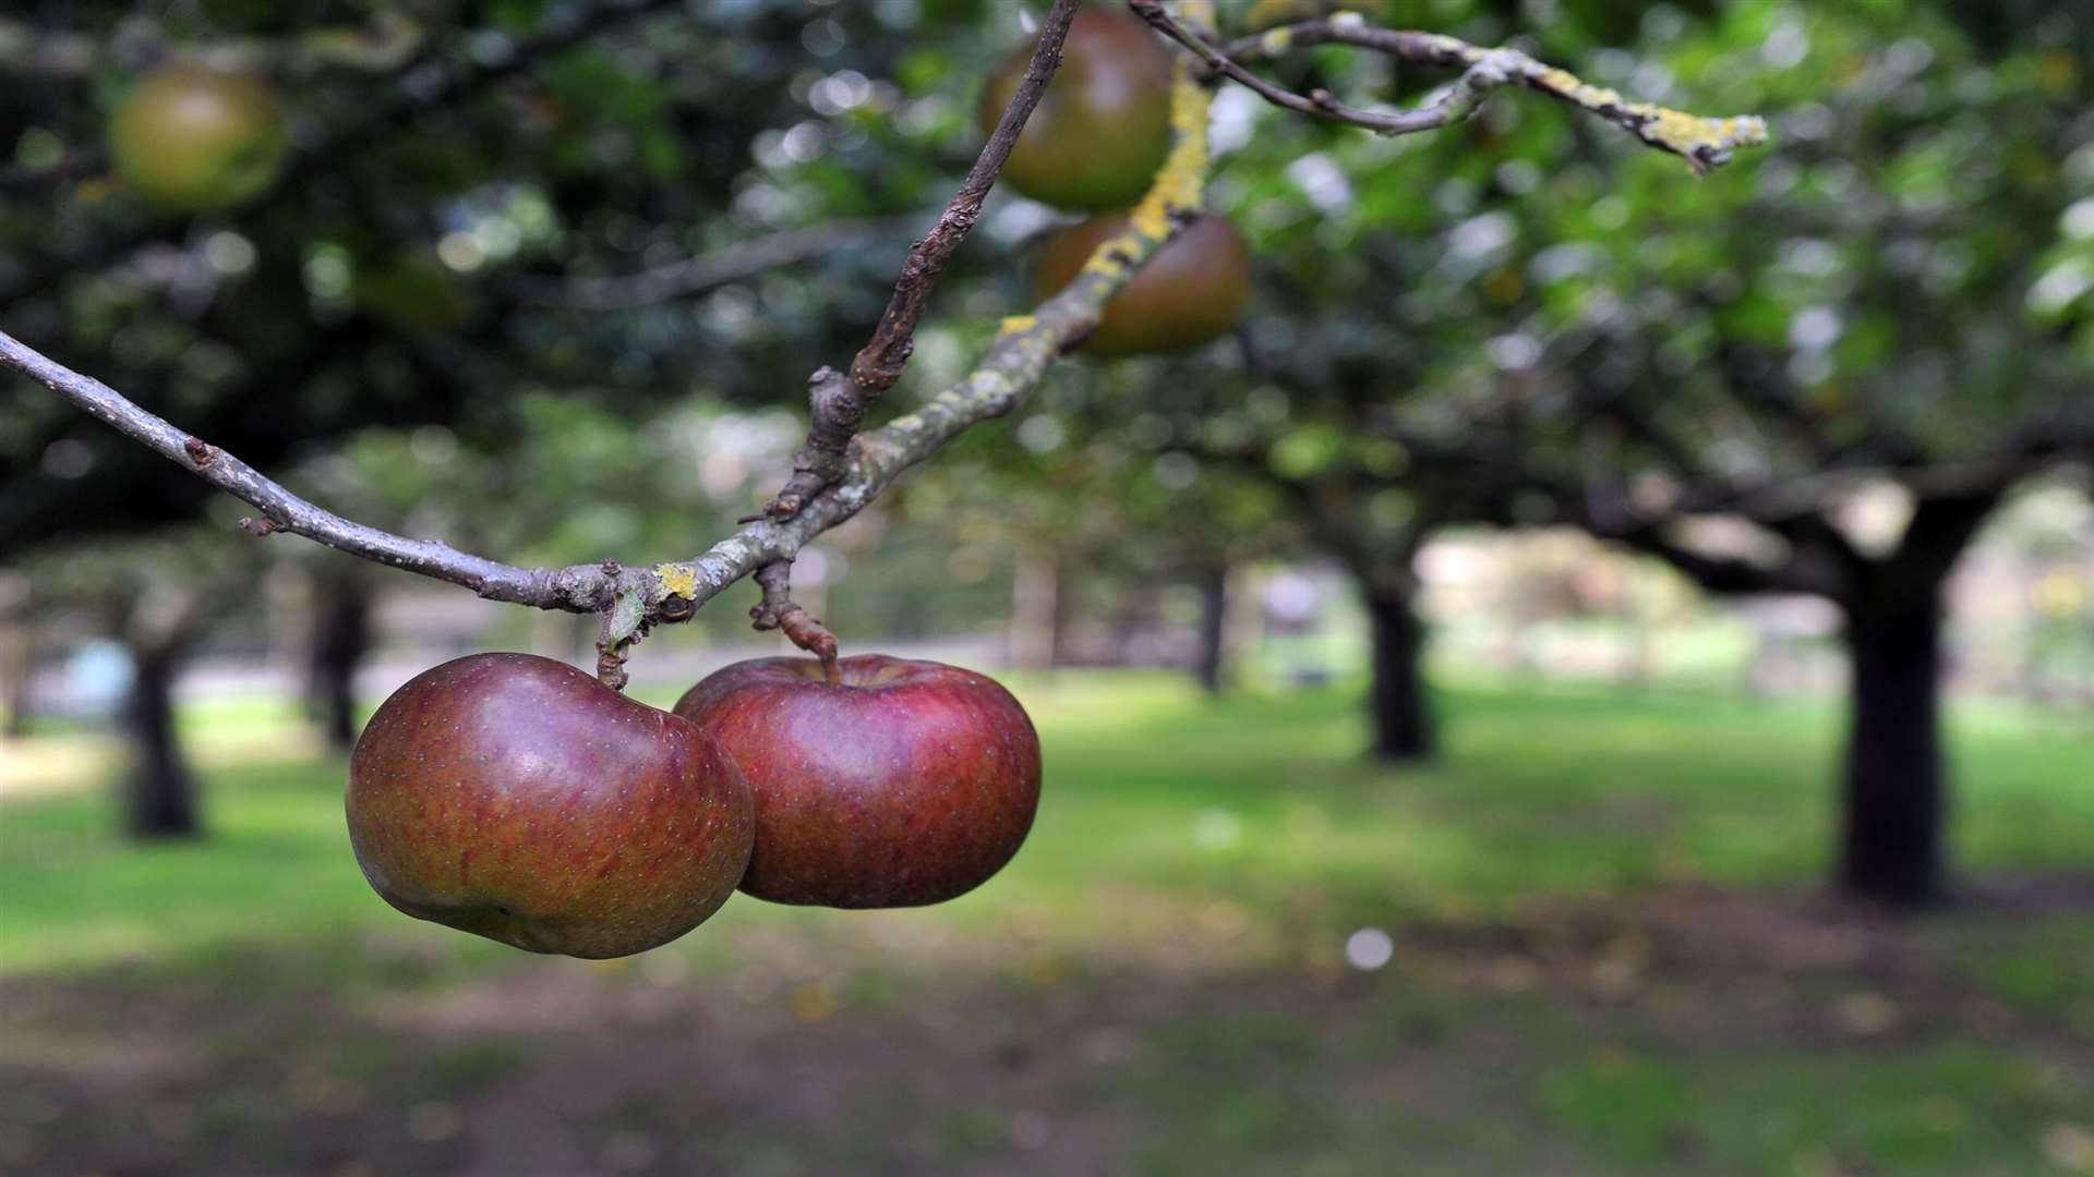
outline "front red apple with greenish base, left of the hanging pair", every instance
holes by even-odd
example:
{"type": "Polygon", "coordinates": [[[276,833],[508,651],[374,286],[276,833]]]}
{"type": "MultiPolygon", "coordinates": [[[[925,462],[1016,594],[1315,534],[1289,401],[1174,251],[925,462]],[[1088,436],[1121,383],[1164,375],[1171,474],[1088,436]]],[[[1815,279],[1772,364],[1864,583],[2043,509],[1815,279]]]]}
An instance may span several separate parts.
{"type": "Polygon", "coordinates": [[[350,844],[400,911],[622,957],[718,911],[750,861],[735,762],[697,725],[530,653],[394,691],[350,756],[350,844]]]}

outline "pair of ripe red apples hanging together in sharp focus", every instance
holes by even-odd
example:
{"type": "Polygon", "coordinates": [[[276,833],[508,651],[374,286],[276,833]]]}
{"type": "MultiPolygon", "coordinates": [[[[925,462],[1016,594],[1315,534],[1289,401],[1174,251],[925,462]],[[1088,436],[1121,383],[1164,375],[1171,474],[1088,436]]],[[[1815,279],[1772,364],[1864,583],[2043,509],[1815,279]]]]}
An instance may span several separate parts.
{"type": "Polygon", "coordinates": [[[886,656],[737,662],[672,712],[549,658],[477,653],[379,706],[350,758],[356,861],[400,911],[622,957],[739,888],[917,907],[1024,842],[1041,748],[995,681],[886,656]]]}

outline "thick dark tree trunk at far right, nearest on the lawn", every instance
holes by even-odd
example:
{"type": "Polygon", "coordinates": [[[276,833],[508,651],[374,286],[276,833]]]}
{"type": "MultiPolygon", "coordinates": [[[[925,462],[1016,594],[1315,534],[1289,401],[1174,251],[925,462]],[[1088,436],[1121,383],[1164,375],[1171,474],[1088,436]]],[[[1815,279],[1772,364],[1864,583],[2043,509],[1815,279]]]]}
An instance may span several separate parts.
{"type": "Polygon", "coordinates": [[[1851,729],[1839,888],[1885,907],[1926,907],[1945,884],[1941,603],[1851,607],[1851,729]]]}

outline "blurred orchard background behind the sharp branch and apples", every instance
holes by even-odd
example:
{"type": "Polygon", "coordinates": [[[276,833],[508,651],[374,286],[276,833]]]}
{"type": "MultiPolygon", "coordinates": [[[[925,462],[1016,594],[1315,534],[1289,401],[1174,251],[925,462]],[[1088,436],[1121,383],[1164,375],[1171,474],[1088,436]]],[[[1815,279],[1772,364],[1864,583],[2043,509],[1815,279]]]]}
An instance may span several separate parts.
{"type": "MultiPolygon", "coordinates": [[[[593,668],[597,618],[249,534],[0,381],[0,1169],[2094,1173],[2094,19],[1357,10],[1772,142],[1696,178],[1531,88],[1388,138],[1221,80],[1240,323],[1074,352],[787,553],[846,653],[1041,729],[949,905],[737,896],[605,963],[400,917],[362,718],[469,651],[593,668]]],[[[381,532],[683,561],[781,519],[810,371],[890,335],[1047,15],[19,6],[0,331],[381,532]],[[281,105],[253,193],[124,159],[191,59],[281,105]]],[[[1212,21],[1296,98],[1464,77],[1212,21]]],[[[1076,218],[1009,188],[867,429],[1083,333],[1034,312],[1076,218]]],[[[614,643],[628,693],[775,653],[760,603],[614,643]]]]}

